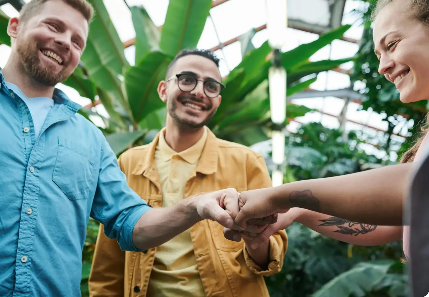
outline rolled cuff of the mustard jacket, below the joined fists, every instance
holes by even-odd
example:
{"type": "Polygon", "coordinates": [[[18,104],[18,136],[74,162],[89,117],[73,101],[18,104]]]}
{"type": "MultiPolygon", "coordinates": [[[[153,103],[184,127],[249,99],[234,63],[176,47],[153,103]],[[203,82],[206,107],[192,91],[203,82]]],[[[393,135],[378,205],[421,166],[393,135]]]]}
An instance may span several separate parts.
{"type": "Polygon", "coordinates": [[[247,267],[251,272],[257,275],[272,276],[281,270],[281,251],[273,235],[269,237],[269,264],[266,270],[262,270],[262,268],[252,260],[248,254],[246,244],[244,244],[243,254],[247,267]]]}

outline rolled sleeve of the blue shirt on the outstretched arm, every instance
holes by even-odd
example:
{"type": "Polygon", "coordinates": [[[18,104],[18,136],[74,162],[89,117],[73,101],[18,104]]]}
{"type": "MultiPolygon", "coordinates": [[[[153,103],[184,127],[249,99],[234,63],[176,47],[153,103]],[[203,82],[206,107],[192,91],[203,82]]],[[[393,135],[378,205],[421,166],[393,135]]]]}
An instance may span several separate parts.
{"type": "Polygon", "coordinates": [[[121,250],[143,252],[133,243],[133,229],[151,207],[128,186],[115,153],[103,139],[100,174],[91,217],[104,225],[106,236],[116,239],[121,250]]]}

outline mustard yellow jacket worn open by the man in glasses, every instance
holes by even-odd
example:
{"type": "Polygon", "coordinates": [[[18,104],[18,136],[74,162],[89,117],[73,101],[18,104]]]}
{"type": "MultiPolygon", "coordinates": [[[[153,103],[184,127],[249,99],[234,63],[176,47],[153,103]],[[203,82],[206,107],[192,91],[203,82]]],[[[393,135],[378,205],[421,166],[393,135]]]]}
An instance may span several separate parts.
{"type": "MultiPolygon", "coordinates": [[[[162,207],[154,153],[159,134],[147,145],[123,153],[121,170],[130,187],[152,207],[162,207]]],[[[265,161],[248,147],[224,141],[208,131],[196,171],[187,180],[186,197],[235,188],[238,192],[271,186],[265,161]]],[[[197,267],[206,297],[269,297],[263,276],[278,273],[287,250],[284,230],[270,237],[270,263],[261,270],[248,256],[243,240],[227,240],[217,222],[203,220],[190,228],[197,267]]],[[[91,297],[146,296],[156,248],[147,253],[124,252],[100,225],[89,291],[91,297]]]]}

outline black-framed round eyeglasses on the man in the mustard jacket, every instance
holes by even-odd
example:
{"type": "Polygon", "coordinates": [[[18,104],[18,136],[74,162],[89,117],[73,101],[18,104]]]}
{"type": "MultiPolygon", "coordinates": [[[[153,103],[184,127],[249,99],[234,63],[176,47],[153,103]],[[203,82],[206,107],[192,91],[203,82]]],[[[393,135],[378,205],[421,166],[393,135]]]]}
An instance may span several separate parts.
{"type": "MultiPolygon", "coordinates": [[[[188,73],[180,73],[176,74],[175,76],[177,78],[177,86],[182,92],[193,91],[198,84],[198,81],[202,81],[205,96],[209,98],[215,98],[219,96],[222,90],[225,88],[223,84],[221,84],[219,81],[215,81],[214,79],[203,81],[188,73]]],[[[167,81],[171,81],[172,79],[173,78],[170,78],[167,81]]]]}

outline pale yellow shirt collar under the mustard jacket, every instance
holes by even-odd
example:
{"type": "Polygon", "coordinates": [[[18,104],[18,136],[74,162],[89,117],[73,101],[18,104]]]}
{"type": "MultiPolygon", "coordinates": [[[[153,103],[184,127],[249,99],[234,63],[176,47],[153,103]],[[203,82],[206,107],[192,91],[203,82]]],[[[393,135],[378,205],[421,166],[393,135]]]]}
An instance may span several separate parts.
{"type": "Polygon", "coordinates": [[[201,156],[202,149],[204,148],[205,141],[207,139],[207,127],[204,126],[204,132],[202,134],[202,137],[199,138],[199,140],[195,144],[193,144],[193,146],[187,148],[184,151],[181,151],[180,153],[175,152],[175,150],[173,150],[166,143],[164,133],[165,128],[160,131],[160,138],[158,141],[157,149],[160,150],[162,158],[165,161],[169,161],[175,155],[180,156],[182,159],[184,159],[190,164],[194,164],[196,161],[198,161],[199,157],[201,156]]]}

